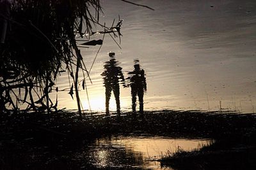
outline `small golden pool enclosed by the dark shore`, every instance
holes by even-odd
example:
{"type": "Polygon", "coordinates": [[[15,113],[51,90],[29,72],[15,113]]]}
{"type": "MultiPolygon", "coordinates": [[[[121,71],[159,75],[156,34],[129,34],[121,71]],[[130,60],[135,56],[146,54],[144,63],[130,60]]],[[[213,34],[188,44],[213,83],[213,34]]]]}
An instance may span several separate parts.
{"type": "Polygon", "coordinates": [[[111,136],[97,139],[76,155],[79,159],[89,160],[90,164],[98,168],[172,169],[147,160],[160,158],[167,151],[175,152],[178,147],[189,151],[209,143],[209,140],[111,136]]]}

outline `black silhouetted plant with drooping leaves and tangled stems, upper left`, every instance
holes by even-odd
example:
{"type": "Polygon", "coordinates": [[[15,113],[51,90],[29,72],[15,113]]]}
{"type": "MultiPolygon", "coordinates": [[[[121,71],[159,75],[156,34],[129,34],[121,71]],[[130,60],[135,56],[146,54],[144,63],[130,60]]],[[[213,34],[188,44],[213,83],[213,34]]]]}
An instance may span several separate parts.
{"type": "MultiPolygon", "coordinates": [[[[111,27],[100,24],[99,0],[17,0],[10,9],[11,16],[0,11],[0,20],[8,23],[4,43],[1,40],[0,45],[0,109],[8,111],[11,107],[17,113],[26,104],[25,111],[57,110],[58,99],[52,102],[49,93],[58,92],[54,86],[56,78],[67,71],[73,80],[69,94],[75,92],[81,117],[78,75],[83,72],[84,88],[92,67],[86,69],[77,38],[90,39],[95,33],[120,38],[122,20],[115,27],[115,20],[111,27]],[[93,32],[96,25],[104,31],[93,32]]],[[[102,41],[97,42],[102,45],[102,41]]]]}

